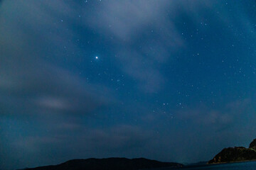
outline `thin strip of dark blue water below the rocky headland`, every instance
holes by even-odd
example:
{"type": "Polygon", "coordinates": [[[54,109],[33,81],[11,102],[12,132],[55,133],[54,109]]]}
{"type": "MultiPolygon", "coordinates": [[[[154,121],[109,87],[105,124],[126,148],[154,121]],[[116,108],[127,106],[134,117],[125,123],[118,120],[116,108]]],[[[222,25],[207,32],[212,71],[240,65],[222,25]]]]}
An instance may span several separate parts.
{"type": "MultiPolygon", "coordinates": [[[[256,162],[240,162],[232,164],[215,164],[204,166],[188,166],[181,168],[180,170],[256,170],[256,162]]],[[[158,169],[160,170],[160,169],[158,169]]],[[[161,169],[161,170],[175,170],[175,169],[161,169]]]]}

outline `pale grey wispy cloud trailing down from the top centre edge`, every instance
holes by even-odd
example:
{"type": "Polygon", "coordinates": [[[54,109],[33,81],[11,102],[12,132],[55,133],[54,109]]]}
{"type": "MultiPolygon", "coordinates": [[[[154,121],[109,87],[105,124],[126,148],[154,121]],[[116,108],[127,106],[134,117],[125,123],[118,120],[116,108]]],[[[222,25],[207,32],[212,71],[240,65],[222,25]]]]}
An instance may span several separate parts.
{"type": "Polygon", "coordinates": [[[139,82],[142,91],[161,89],[164,76],[156,63],[164,64],[171,57],[167,51],[183,45],[174,17],[166,15],[175,7],[174,1],[102,1],[92,11],[93,18],[87,18],[88,26],[118,40],[115,57],[120,68],[139,82]]]}

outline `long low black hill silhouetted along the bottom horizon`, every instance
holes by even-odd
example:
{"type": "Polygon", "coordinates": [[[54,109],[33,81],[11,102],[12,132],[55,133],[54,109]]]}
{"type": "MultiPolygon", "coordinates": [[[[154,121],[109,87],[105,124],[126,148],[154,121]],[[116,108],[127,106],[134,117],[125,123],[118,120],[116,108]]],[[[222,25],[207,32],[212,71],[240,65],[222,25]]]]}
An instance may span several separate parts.
{"type": "Polygon", "coordinates": [[[174,162],[158,162],[150,159],[138,158],[106,158],[106,159],[73,159],[63,164],[41,166],[26,170],[137,170],[162,167],[181,167],[183,164],[174,162]]]}

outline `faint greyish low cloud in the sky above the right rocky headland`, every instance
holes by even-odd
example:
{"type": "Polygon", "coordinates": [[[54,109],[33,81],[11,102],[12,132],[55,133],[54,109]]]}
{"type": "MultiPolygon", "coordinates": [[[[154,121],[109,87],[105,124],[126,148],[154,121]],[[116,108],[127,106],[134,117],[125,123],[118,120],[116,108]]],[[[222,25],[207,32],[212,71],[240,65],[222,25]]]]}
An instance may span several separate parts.
{"type": "Polygon", "coordinates": [[[183,121],[190,121],[197,125],[210,126],[213,130],[236,125],[245,113],[252,111],[250,99],[233,101],[221,108],[209,108],[198,106],[198,108],[184,108],[176,113],[177,118],[183,121]]]}

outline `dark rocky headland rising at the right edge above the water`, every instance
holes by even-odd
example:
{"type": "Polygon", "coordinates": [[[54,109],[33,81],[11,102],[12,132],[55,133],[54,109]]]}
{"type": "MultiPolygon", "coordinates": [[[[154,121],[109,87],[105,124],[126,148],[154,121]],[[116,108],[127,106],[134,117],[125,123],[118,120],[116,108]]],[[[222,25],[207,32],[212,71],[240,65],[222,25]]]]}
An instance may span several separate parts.
{"type": "Polygon", "coordinates": [[[228,147],[218,153],[208,164],[222,164],[229,162],[245,162],[256,160],[256,139],[250,143],[249,148],[228,147]]]}

